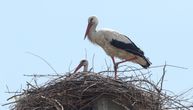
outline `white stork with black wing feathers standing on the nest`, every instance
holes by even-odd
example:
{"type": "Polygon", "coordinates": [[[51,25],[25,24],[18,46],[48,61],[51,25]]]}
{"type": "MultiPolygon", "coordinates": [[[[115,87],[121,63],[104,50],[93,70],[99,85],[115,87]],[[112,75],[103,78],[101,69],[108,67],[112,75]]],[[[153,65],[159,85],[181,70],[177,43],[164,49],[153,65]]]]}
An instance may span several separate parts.
{"type": "Polygon", "coordinates": [[[116,31],[101,29],[96,30],[98,19],[96,16],[88,18],[88,26],[85,37],[93,43],[104,49],[109,55],[114,64],[115,79],[117,78],[117,68],[120,63],[131,61],[141,65],[143,68],[148,68],[151,62],[144,56],[144,52],[138,48],[127,36],[116,31]],[[120,62],[115,62],[114,57],[122,59],[120,62]]]}

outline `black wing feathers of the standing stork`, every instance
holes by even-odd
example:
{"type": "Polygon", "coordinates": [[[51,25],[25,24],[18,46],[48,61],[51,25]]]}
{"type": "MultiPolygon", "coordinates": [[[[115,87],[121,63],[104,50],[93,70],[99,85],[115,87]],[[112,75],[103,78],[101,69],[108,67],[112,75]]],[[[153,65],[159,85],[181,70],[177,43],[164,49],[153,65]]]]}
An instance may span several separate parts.
{"type": "Polygon", "coordinates": [[[111,45],[113,45],[116,48],[119,48],[127,52],[130,52],[132,54],[144,57],[144,52],[140,48],[138,48],[132,41],[131,43],[125,43],[122,41],[118,41],[116,39],[112,39],[110,43],[111,45]]]}

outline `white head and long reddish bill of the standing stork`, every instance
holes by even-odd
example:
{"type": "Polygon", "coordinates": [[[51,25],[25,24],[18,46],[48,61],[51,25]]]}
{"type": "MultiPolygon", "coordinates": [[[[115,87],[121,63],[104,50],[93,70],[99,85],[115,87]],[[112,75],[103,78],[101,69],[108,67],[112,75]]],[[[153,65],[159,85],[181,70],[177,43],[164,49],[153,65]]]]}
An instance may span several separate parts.
{"type": "Polygon", "coordinates": [[[86,29],[86,33],[85,33],[84,39],[88,35],[91,27],[96,26],[97,24],[98,24],[98,19],[97,19],[96,16],[91,16],[91,17],[88,18],[88,25],[87,25],[87,29],[86,29]]]}

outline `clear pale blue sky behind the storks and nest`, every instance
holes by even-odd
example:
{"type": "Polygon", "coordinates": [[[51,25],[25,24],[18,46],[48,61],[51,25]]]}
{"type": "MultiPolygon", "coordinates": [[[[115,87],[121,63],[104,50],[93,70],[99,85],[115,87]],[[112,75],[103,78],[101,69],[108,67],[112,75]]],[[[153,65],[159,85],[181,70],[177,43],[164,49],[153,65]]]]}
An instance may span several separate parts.
{"type": "MultiPolygon", "coordinates": [[[[98,17],[98,29],[127,35],[152,66],[167,62],[188,68],[167,67],[164,82],[176,94],[188,90],[193,87],[192,5],[192,0],[0,0],[0,105],[14,95],[6,93],[6,86],[10,91],[26,88],[31,78],[24,74],[54,73],[27,52],[61,74],[85,58],[91,63],[94,57],[95,72],[104,70],[105,60],[112,64],[101,48],[83,39],[91,15],[98,17]]],[[[159,79],[162,68],[150,71],[159,79]]]]}

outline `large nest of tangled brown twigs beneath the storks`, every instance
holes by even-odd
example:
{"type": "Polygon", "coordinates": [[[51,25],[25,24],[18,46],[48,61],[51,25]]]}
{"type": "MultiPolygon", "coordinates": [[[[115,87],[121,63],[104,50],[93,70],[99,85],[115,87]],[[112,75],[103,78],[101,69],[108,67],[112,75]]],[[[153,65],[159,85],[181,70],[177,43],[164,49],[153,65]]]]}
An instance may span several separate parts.
{"type": "Polygon", "coordinates": [[[97,110],[94,105],[104,97],[123,110],[186,109],[144,76],[115,80],[92,72],[60,76],[41,87],[31,85],[19,95],[12,109],[97,110]]]}

